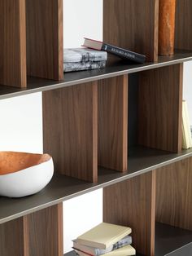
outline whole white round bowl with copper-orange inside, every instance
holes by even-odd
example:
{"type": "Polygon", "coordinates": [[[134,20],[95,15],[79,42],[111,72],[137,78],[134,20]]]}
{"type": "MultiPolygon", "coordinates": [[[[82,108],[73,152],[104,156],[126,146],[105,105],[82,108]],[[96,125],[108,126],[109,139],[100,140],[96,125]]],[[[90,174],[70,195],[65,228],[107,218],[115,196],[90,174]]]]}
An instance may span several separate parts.
{"type": "Polygon", "coordinates": [[[53,174],[48,154],[0,152],[0,196],[33,195],[46,187],[53,174]]]}

